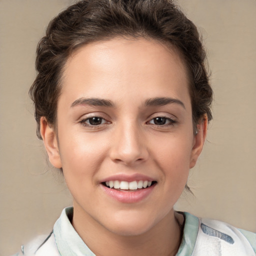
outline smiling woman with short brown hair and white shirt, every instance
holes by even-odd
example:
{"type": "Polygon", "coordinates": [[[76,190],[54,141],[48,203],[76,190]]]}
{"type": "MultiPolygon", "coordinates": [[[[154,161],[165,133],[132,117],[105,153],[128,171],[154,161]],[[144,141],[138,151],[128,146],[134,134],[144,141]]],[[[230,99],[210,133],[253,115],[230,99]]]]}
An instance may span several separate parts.
{"type": "Polygon", "coordinates": [[[51,21],[30,95],[73,207],[21,253],[255,254],[254,233],[173,210],[211,119],[204,60],[168,0],[85,0],[51,21]]]}

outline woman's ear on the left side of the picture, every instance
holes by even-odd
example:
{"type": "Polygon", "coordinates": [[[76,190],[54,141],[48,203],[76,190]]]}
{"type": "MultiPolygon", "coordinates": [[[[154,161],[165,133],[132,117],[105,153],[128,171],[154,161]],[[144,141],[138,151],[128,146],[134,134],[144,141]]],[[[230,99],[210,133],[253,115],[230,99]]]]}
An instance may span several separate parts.
{"type": "Polygon", "coordinates": [[[56,168],[61,168],[56,132],[44,116],[40,118],[40,132],[50,163],[56,168]]]}

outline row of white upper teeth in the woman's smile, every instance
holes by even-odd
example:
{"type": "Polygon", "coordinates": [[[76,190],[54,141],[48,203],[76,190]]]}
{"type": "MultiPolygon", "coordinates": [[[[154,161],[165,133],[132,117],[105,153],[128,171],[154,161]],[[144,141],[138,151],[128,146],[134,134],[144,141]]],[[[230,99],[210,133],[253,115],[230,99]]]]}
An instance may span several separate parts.
{"type": "Polygon", "coordinates": [[[124,190],[136,190],[138,188],[146,188],[152,184],[152,181],[147,181],[147,180],[139,180],[139,181],[124,181],[124,180],[109,180],[105,182],[106,186],[110,188],[115,188],[115,189],[124,189],[124,190]]]}

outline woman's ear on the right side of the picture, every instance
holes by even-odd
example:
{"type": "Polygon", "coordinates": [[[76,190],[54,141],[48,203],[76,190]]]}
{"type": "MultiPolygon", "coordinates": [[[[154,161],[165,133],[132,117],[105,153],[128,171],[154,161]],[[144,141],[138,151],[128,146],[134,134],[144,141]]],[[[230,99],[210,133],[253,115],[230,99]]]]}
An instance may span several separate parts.
{"type": "Polygon", "coordinates": [[[194,135],[193,147],[190,155],[189,168],[193,168],[201,151],[207,134],[208,118],[203,116],[201,121],[196,125],[197,133],[194,135]]]}

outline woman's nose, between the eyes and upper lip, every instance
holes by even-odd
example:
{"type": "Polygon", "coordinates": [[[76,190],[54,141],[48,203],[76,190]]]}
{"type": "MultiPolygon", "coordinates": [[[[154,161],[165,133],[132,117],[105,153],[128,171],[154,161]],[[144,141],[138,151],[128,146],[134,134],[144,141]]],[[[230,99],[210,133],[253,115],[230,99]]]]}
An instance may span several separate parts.
{"type": "Polygon", "coordinates": [[[148,158],[146,139],[136,124],[116,125],[110,149],[110,158],[114,162],[134,165],[148,158]]]}

